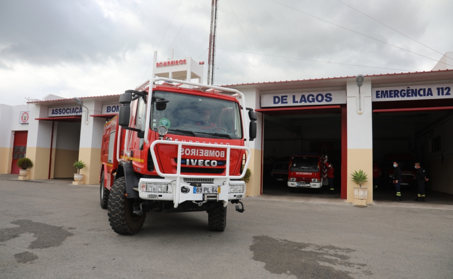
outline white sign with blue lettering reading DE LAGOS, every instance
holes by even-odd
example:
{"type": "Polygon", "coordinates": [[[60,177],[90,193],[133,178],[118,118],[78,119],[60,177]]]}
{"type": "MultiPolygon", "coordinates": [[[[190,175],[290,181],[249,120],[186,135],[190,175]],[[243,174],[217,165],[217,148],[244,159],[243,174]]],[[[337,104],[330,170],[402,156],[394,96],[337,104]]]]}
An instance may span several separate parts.
{"type": "Polygon", "coordinates": [[[346,104],[346,90],[261,95],[261,107],[346,104]]]}

